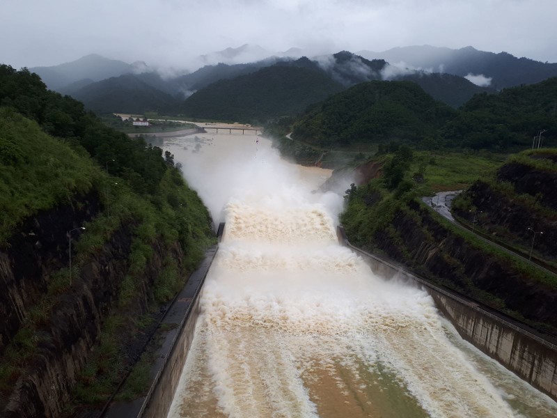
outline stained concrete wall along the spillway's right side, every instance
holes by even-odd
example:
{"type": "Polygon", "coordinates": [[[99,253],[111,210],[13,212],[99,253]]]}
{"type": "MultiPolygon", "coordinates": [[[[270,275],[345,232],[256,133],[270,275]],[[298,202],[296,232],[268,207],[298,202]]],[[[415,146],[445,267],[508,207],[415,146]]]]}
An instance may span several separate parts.
{"type": "Polygon", "coordinates": [[[398,277],[425,288],[437,309],[450,320],[462,338],[496,359],[521,379],[557,401],[557,346],[502,316],[492,314],[478,302],[435,286],[401,267],[350,244],[342,226],[338,241],[363,258],[372,272],[391,279],[398,277]]]}

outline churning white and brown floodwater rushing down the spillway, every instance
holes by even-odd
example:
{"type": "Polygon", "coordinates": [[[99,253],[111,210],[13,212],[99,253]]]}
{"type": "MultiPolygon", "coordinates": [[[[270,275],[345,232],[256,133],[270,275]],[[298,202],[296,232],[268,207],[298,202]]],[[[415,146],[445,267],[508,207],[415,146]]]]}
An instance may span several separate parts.
{"type": "Polygon", "coordinates": [[[557,415],[462,341],[427,293],[375,277],[338,245],[342,198],[311,192],[324,173],[301,181],[253,139],[210,136],[195,155],[168,145],[226,217],[170,417],[557,415]],[[234,150],[210,151],[219,141],[234,150]]]}

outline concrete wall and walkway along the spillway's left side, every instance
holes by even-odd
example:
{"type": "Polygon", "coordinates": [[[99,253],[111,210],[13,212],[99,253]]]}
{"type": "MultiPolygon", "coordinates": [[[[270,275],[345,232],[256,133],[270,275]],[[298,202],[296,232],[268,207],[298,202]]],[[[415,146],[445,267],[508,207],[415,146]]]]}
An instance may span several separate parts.
{"type": "MultiPolygon", "coordinates": [[[[219,242],[223,233],[224,224],[221,224],[217,232],[219,242]]],[[[217,250],[218,246],[214,246],[205,252],[205,259],[198,270],[191,274],[162,320],[160,328],[165,331],[162,333],[162,345],[155,353],[156,361],[149,373],[151,383],[146,396],[132,402],[113,403],[102,417],[159,418],[168,415],[191,341],[194,339],[200,312],[201,289],[217,250]]]]}

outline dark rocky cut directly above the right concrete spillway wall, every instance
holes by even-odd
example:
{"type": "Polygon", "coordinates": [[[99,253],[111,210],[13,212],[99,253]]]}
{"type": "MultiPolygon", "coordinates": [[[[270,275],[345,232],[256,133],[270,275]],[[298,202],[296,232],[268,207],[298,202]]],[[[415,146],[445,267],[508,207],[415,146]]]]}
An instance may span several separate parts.
{"type": "Polygon", "coordinates": [[[524,277],[508,263],[485,254],[439,224],[426,208],[410,203],[411,213],[393,218],[394,233],[382,230],[375,242],[393,260],[425,277],[456,288],[500,309],[519,312],[531,323],[545,323],[557,335],[557,291],[524,277]],[[418,219],[421,219],[418,221],[418,219]]]}

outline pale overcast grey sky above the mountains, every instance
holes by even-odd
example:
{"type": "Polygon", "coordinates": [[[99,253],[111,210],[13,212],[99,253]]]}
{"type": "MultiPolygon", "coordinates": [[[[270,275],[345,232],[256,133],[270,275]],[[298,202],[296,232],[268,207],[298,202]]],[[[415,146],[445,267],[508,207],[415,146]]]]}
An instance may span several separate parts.
{"type": "Polygon", "coordinates": [[[557,0],[0,0],[0,62],[96,53],[183,68],[244,43],[270,51],[471,45],[557,62],[557,0]]]}

